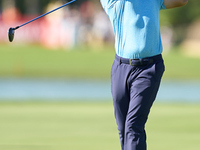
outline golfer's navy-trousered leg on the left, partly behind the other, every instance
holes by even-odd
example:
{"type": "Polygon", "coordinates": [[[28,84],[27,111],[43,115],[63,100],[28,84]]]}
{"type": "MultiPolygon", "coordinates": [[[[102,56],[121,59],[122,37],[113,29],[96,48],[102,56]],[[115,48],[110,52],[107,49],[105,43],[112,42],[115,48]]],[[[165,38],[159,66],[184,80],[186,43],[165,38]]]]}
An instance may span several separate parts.
{"type": "Polygon", "coordinates": [[[126,84],[130,70],[130,65],[121,64],[116,59],[111,70],[111,92],[122,150],[124,150],[125,121],[130,101],[130,94],[126,84]]]}

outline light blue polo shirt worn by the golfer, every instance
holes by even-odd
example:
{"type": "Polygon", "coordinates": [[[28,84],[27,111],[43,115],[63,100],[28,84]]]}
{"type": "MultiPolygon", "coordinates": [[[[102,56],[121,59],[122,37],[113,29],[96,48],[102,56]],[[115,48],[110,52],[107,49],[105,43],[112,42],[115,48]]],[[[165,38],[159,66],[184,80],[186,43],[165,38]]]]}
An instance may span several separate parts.
{"type": "Polygon", "coordinates": [[[115,51],[135,59],[162,53],[159,11],[163,0],[101,0],[115,34],[115,51]]]}

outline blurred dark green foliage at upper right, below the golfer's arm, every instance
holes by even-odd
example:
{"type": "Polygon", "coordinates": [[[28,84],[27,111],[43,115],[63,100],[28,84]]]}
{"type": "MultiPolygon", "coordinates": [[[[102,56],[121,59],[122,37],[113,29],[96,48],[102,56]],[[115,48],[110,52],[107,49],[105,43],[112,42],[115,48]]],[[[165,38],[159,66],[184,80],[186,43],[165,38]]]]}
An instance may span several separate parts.
{"type": "Polygon", "coordinates": [[[199,7],[199,0],[189,0],[183,7],[160,11],[160,24],[173,30],[175,45],[179,45],[185,39],[187,27],[200,19],[199,7]]]}

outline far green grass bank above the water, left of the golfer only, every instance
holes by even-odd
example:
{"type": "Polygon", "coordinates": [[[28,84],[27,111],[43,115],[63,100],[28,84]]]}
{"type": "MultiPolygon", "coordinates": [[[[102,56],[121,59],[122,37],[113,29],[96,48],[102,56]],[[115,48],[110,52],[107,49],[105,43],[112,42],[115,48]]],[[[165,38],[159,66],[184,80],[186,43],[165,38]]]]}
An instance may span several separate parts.
{"type": "MultiPolygon", "coordinates": [[[[91,48],[88,48],[91,49],[91,48]]],[[[114,59],[111,50],[47,50],[41,46],[1,46],[0,76],[107,78],[114,59]]]]}

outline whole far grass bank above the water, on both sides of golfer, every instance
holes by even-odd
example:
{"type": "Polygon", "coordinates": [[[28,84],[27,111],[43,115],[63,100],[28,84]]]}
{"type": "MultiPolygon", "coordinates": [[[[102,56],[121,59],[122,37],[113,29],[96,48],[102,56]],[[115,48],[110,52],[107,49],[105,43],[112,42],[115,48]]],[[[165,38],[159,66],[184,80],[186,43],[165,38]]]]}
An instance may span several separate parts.
{"type": "MultiPolygon", "coordinates": [[[[37,45],[1,44],[0,76],[109,79],[114,55],[112,46],[55,51],[37,45]]],[[[164,54],[164,60],[164,78],[200,79],[200,59],[176,50],[164,54]]]]}

